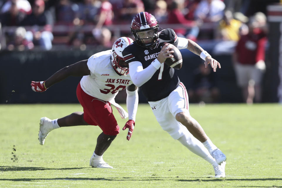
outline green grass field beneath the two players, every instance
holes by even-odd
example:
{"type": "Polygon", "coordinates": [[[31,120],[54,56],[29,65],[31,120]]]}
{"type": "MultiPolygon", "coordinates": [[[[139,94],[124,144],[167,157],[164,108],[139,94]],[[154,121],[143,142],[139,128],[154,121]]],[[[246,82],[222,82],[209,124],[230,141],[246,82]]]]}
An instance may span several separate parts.
{"type": "MultiPolygon", "coordinates": [[[[40,117],[81,110],[79,104],[0,105],[0,187],[282,187],[281,105],[190,105],[227,156],[226,177],[219,179],[162,130],[147,104],[139,105],[131,140],[121,130],[105,152],[114,169],[88,166],[101,133],[96,126],[59,128],[39,145],[40,117]]],[[[114,113],[122,128],[126,120],[114,113]]]]}

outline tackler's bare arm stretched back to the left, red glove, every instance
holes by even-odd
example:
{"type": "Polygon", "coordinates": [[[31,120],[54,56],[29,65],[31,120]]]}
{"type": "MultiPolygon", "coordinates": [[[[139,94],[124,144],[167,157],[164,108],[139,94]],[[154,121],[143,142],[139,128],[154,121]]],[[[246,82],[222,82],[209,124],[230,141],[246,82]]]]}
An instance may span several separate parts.
{"type": "Polygon", "coordinates": [[[51,87],[55,83],[58,83],[69,76],[84,76],[90,75],[90,70],[87,66],[88,60],[79,61],[70,66],[66,66],[55,74],[50,76],[46,81],[34,82],[31,81],[31,89],[36,92],[46,91],[47,88],[51,87]]]}

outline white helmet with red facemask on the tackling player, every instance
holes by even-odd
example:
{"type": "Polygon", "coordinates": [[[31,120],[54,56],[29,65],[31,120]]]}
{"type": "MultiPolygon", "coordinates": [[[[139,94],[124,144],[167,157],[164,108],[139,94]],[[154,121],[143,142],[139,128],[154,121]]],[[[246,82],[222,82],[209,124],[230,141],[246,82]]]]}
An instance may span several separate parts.
{"type": "Polygon", "coordinates": [[[133,40],[128,37],[120,37],[113,44],[112,48],[112,65],[116,72],[120,75],[126,75],[129,73],[128,63],[125,63],[125,60],[122,56],[122,51],[133,43],[133,40]]]}

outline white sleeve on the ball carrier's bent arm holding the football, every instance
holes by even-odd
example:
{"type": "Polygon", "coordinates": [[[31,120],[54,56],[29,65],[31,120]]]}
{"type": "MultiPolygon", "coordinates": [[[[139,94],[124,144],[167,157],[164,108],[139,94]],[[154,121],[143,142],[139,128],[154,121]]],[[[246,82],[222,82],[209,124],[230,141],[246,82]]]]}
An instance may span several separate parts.
{"type": "Polygon", "coordinates": [[[161,67],[161,63],[155,59],[147,68],[143,69],[142,63],[139,61],[133,61],[129,63],[129,75],[132,82],[137,87],[140,87],[146,83],[154,73],[161,67]]]}

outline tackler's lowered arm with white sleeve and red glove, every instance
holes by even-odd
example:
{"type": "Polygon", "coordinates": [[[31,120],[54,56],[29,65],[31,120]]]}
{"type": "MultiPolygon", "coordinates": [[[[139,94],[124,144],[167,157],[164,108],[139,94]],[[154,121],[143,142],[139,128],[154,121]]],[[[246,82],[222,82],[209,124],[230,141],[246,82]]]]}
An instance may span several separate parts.
{"type": "Polygon", "coordinates": [[[138,107],[138,89],[134,84],[131,84],[127,86],[126,93],[127,93],[126,106],[128,111],[128,121],[125,123],[125,126],[122,128],[122,130],[128,128],[126,139],[130,140],[130,137],[132,135],[135,126],[135,117],[138,107]]]}

